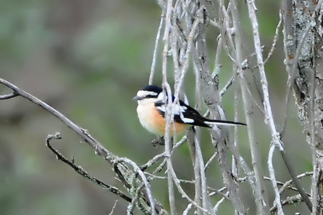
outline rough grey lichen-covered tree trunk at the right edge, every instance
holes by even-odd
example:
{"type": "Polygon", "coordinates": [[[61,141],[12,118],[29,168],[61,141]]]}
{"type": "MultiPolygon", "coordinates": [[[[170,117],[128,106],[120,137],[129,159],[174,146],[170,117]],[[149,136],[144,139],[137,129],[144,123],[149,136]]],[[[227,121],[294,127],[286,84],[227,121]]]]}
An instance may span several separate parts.
{"type": "Polygon", "coordinates": [[[298,118],[312,147],[312,214],[322,214],[323,59],[321,1],[285,1],[285,64],[298,118]]]}

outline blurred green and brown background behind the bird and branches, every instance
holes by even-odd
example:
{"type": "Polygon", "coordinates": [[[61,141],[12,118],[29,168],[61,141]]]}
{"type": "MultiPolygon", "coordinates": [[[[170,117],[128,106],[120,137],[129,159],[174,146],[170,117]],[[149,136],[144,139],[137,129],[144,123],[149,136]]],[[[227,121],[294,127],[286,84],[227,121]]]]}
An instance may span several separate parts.
{"type": "MultiPolygon", "coordinates": [[[[161,153],[162,147],[151,145],[155,136],[141,127],[136,103],[131,101],[137,90],[148,83],[161,15],[161,9],[154,1],[13,0],[3,1],[1,5],[1,78],[52,105],[120,157],[128,157],[141,165],[161,153]]],[[[256,6],[266,56],[278,22],[280,1],[257,1],[256,6]]],[[[252,44],[245,5],[240,5],[240,11],[245,36],[252,44]]],[[[210,12],[210,16],[214,14],[210,12]]],[[[212,70],[218,30],[211,25],[207,30],[212,70]]],[[[266,64],[270,99],[278,126],[282,120],[287,81],[281,38],[282,35],[273,57],[266,64]]],[[[158,57],[156,85],[161,84],[160,62],[158,57]]],[[[224,86],[232,75],[232,66],[225,54],[221,63],[220,84],[224,86]]],[[[172,73],[169,77],[173,83],[172,73]]],[[[193,105],[195,85],[192,72],[186,77],[185,89],[193,105]]],[[[0,86],[0,92],[10,93],[4,86],[0,86]]],[[[233,98],[234,90],[230,89],[222,101],[230,120],[234,118],[233,98]]],[[[239,105],[242,107],[242,102],[239,105]]],[[[243,112],[240,115],[240,121],[245,122],[243,112]]],[[[268,175],[266,161],[270,133],[264,116],[258,112],[255,117],[255,133],[268,175]]],[[[240,131],[239,148],[250,164],[247,130],[241,128],[240,131]]],[[[297,173],[311,171],[310,149],[301,131],[292,98],[283,141],[297,173]]],[[[93,176],[122,189],[114,179],[111,166],[58,119],[23,98],[3,100],[0,101],[0,214],[108,214],[116,199],[119,202],[114,214],[125,214],[127,204],[124,200],[56,160],[45,146],[47,135],[55,132],[60,132],[63,139],[53,141],[54,147],[67,157],[73,155],[75,162],[93,176]]],[[[207,160],[214,149],[206,130],[203,130],[202,140],[203,156],[207,160]]],[[[193,179],[186,144],[175,153],[174,164],[179,178],[193,179]]],[[[289,180],[278,153],[275,154],[275,167],[277,180],[289,180]]],[[[222,176],[216,162],[211,168],[207,173],[208,183],[220,188],[223,186],[222,176]]],[[[310,180],[302,182],[308,190],[310,180]]],[[[271,188],[270,182],[266,184],[271,188]]],[[[168,207],[166,185],[166,181],[152,182],[153,194],[168,207]]],[[[193,194],[191,185],[183,186],[193,194]]],[[[243,201],[250,214],[254,214],[249,185],[244,183],[242,186],[245,187],[243,201]]],[[[273,193],[269,193],[272,202],[273,193]]],[[[178,210],[182,211],[186,201],[179,194],[177,197],[178,210]]],[[[308,213],[306,206],[301,205],[300,209],[287,206],[287,214],[308,213]]],[[[220,211],[221,214],[233,214],[231,203],[224,202],[220,211]]]]}

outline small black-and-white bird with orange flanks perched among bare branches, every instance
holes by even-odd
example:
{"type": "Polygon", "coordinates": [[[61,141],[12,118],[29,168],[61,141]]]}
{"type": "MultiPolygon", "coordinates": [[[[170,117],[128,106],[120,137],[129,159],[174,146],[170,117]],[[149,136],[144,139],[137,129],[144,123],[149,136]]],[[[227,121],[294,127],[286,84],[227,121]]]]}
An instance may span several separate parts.
{"type": "MultiPolygon", "coordinates": [[[[137,113],[141,125],[149,132],[158,136],[165,134],[165,111],[167,105],[167,93],[164,99],[162,88],[155,85],[147,85],[141,88],[132,100],[137,101],[137,113]],[[165,103],[166,101],[166,103],[165,103]]],[[[172,95],[172,101],[175,97],[172,95]]],[[[174,104],[174,126],[170,126],[170,134],[182,133],[187,125],[212,128],[214,124],[220,125],[246,125],[242,122],[214,120],[203,117],[197,110],[179,100],[174,104]],[[174,131],[175,127],[175,131],[174,131]]]]}

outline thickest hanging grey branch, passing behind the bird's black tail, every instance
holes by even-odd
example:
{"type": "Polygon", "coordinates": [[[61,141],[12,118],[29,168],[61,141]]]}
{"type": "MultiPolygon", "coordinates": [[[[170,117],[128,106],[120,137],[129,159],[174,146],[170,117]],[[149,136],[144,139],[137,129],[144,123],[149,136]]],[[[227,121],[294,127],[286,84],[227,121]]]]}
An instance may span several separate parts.
{"type": "MultiPolygon", "coordinates": [[[[201,5],[200,5],[201,6],[201,5]]],[[[201,6],[202,7],[202,6],[201,6]]],[[[225,10],[225,9],[224,9],[225,10]]],[[[200,17],[205,16],[205,8],[200,10],[200,17]]],[[[209,70],[209,59],[207,48],[205,44],[205,20],[204,22],[200,23],[197,30],[196,30],[196,42],[194,44],[193,49],[193,59],[194,64],[196,65],[196,71],[201,79],[201,92],[203,93],[204,103],[207,104],[211,116],[216,117],[217,119],[223,119],[225,116],[224,114],[220,114],[219,109],[222,109],[219,101],[219,94],[218,94],[218,85],[214,83],[214,80],[210,76],[209,70]]],[[[230,34],[230,32],[228,32],[230,34]]],[[[221,111],[222,112],[222,111],[221,111]]],[[[224,113],[224,112],[222,112],[224,113]]],[[[226,139],[227,139],[227,132],[222,132],[218,127],[214,126],[213,130],[211,130],[211,137],[212,143],[214,146],[217,146],[217,150],[219,152],[219,166],[224,178],[224,182],[226,186],[229,187],[230,196],[233,200],[234,207],[240,214],[245,214],[245,208],[241,202],[240,192],[237,188],[237,184],[234,181],[233,176],[231,173],[230,164],[227,162],[227,146],[226,146],[226,139]]]]}

